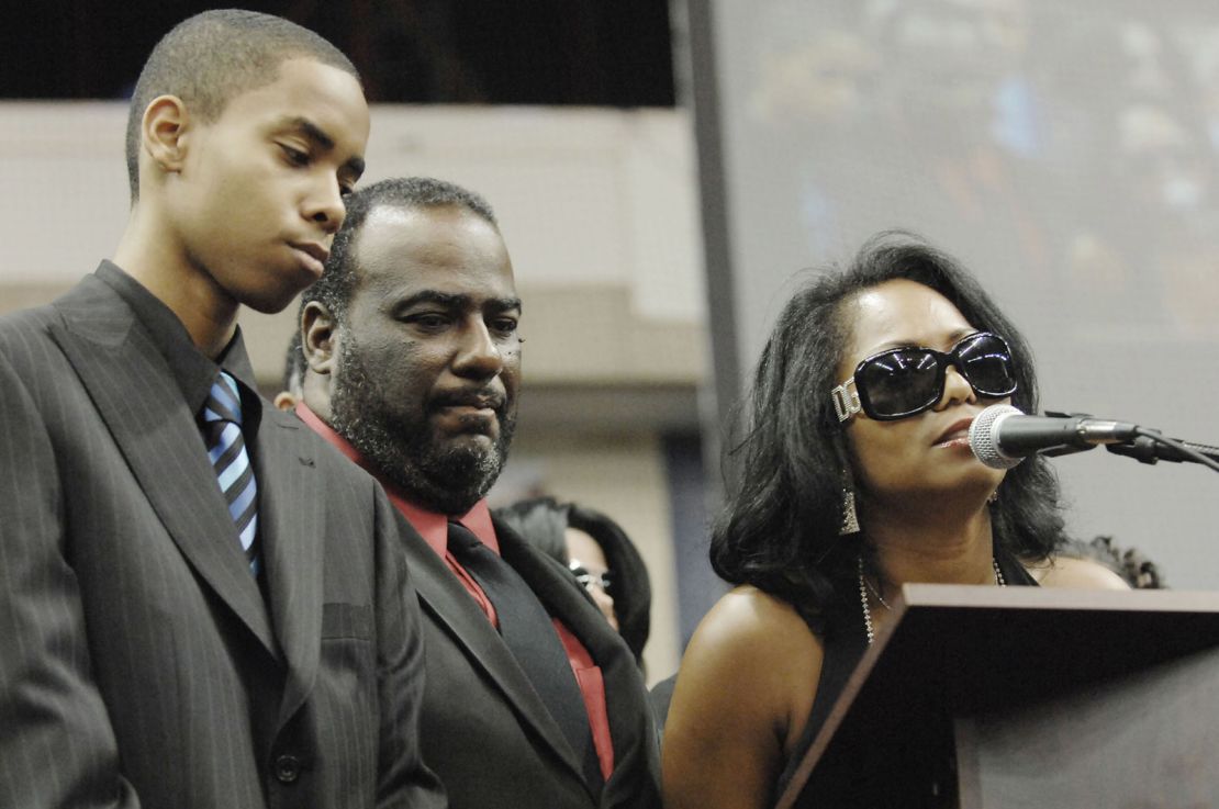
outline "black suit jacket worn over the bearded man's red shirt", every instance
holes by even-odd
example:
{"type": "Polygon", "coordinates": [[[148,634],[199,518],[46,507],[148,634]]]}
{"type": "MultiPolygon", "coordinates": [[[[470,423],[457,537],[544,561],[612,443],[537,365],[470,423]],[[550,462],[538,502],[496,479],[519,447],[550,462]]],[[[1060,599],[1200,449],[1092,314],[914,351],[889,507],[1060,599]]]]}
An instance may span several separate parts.
{"type": "Polygon", "coordinates": [[[403,531],[427,641],[424,763],[453,809],[658,808],[656,731],[630,649],[570,574],[502,523],[495,530],[503,559],[601,668],[614,770],[594,800],[580,763],[499,632],[435,551],[403,531]]]}

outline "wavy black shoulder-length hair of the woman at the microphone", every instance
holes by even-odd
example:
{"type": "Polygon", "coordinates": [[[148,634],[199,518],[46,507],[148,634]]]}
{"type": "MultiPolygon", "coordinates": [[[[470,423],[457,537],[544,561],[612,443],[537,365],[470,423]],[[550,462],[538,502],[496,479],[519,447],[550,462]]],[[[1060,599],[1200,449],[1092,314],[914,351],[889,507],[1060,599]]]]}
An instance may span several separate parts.
{"type": "MultiPolygon", "coordinates": [[[[1013,404],[1037,409],[1032,356],[1015,325],[952,257],[919,236],[890,230],[869,239],[851,263],[829,267],[784,307],[762,351],[725,462],[740,484],[712,531],[711,564],[724,580],[750,584],[790,603],[813,626],[856,587],[859,535],[840,536],[846,436],[829,391],[850,342],[844,303],[863,290],[909,279],[948,299],[969,323],[1003,335],[1015,357],[1013,404]]],[[[1045,558],[1065,541],[1058,480],[1040,457],[1009,470],[991,506],[996,547],[1045,558]]]]}

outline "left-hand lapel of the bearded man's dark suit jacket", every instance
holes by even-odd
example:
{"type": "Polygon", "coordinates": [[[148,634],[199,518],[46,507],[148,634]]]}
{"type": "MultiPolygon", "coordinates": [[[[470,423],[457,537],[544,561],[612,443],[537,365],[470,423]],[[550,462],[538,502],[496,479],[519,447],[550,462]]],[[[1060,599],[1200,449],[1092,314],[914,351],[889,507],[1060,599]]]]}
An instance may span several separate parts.
{"type": "Polygon", "coordinates": [[[445,560],[418,536],[405,517],[399,514],[399,532],[406,545],[411,580],[424,609],[466,652],[472,663],[490,676],[517,715],[541,736],[555,754],[583,781],[579,763],[563,737],[563,731],[534,691],[500,634],[495,631],[445,560]]]}

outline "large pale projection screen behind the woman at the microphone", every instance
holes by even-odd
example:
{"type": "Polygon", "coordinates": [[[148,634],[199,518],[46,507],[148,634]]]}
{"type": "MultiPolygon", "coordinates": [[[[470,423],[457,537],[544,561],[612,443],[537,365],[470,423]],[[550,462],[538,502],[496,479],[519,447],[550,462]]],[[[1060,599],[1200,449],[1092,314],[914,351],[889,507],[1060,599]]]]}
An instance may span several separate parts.
{"type": "MultiPolygon", "coordinates": [[[[1219,443],[1219,10],[690,0],[718,431],[800,270],[870,234],[963,261],[1042,407],[1219,443]]],[[[1053,462],[1073,534],[1219,585],[1219,474],[1053,462]]],[[[714,465],[712,467],[714,468],[714,465]]]]}

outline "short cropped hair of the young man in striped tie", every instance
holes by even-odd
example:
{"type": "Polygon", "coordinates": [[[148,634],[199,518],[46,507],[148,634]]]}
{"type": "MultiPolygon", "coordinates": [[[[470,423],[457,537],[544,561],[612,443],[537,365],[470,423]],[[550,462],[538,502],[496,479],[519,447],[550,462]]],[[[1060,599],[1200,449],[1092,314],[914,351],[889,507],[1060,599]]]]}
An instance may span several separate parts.
{"type": "Polygon", "coordinates": [[[178,23],[161,38],[144,62],[127,116],[127,178],[132,203],[140,195],[140,141],[144,111],[152,99],[176,95],[190,115],[216,121],[243,93],[273,83],[290,58],[312,58],[360,73],[343,51],[322,37],[273,15],[216,9],[178,23]]]}

